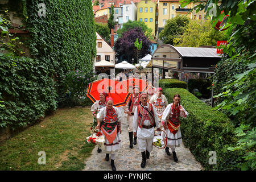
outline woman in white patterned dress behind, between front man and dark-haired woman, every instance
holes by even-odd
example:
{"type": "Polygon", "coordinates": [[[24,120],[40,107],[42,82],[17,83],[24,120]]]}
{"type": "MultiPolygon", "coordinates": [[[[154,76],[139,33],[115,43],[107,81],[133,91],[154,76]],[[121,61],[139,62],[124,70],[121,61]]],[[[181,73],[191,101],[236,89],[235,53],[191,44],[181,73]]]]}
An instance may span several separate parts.
{"type": "Polygon", "coordinates": [[[154,96],[151,97],[149,103],[155,106],[155,110],[156,110],[156,113],[158,114],[158,119],[160,122],[160,127],[162,127],[161,119],[163,116],[163,112],[168,105],[167,98],[166,96],[164,96],[162,92],[162,88],[156,89],[156,94],[154,94],[154,96]]]}

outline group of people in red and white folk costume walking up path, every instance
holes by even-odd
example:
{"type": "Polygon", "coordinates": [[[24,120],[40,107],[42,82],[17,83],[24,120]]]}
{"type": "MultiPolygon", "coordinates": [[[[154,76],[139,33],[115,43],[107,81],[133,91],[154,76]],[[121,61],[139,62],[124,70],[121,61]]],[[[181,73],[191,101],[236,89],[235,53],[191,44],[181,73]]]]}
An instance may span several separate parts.
{"type": "MultiPolygon", "coordinates": [[[[100,129],[101,134],[105,138],[105,160],[109,161],[111,155],[111,167],[115,171],[114,166],[115,153],[121,148],[121,121],[123,115],[121,108],[113,106],[113,98],[108,97],[106,93],[100,93],[100,100],[96,101],[92,106],[92,114],[97,118],[96,129],[100,129]]],[[[130,148],[137,144],[142,154],[141,167],[146,166],[146,160],[150,157],[153,149],[153,138],[156,131],[162,129],[167,134],[167,147],[165,148],[167,155],[171,155],[169,148],[172,150],[175,162],[178,162],[175,148],[182,143],[180,120],[179,117],[186,118],[188,113],[180,104],[180,96],[176,94],[173,103],[168,104],[166,97],[162,93],[162,88],[154,88],[152,84],[148,84],[146,92],[139,93],[139,87],[133,86],[133,94],[127,105],[123,106],[123,110],[127,113],[127,122],[130,148]],[[153,92],[152,92],[153,90],[153,92]],[[150,97],[150,99],[149,99],[150,97]]],[[[163,131],[160,134],[164,136],[163,131]]],[[[98,148],[98,152],[101,149],[98,148]]]]}

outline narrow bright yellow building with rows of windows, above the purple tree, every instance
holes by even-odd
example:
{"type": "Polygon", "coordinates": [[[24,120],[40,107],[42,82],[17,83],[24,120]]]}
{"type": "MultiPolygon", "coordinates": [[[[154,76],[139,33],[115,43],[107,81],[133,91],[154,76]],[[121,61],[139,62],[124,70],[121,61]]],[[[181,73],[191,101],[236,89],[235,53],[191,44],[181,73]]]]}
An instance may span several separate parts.
{"type": "Polygon", "coordinates": [[[149,0],[142,0],[137,5],[137,20],[144,22],[148,28],[152,29],[152,34],[156,33],[156,4],[149,0]]]}

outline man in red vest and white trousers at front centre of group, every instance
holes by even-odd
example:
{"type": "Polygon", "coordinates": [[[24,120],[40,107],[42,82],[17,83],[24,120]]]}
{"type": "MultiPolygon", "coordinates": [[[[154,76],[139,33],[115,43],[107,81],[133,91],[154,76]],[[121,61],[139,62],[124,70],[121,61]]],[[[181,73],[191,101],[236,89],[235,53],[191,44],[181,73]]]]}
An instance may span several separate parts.
{"type": "Polygon", "coordinates": [[[138,105],[134,111],[133,134],[134,137],[138,137],[139,151],[142,154],[141,167],[143,168],[153,150],[154,127],[157,131],[161,129],[154,105],[147,102],[147,94],[142,92],[139,98],[142,104],[138,105]]]}

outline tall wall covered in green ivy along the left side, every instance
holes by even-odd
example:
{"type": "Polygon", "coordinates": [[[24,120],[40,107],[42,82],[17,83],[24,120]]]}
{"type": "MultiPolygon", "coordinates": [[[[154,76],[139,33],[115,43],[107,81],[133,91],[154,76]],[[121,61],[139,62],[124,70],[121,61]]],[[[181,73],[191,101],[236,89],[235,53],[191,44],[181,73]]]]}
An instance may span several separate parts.
{"type": "Polygon", "coordinates": [[[60,105],[69,70],[79,69],[87,81],[93,76],[96,31],[89,0],[10,0],[2,10],[0,32],[13,28],[4,22],[14,16],[29,31],[25,38],[0,34],[0,127],[15,130],[60,105]]]}

